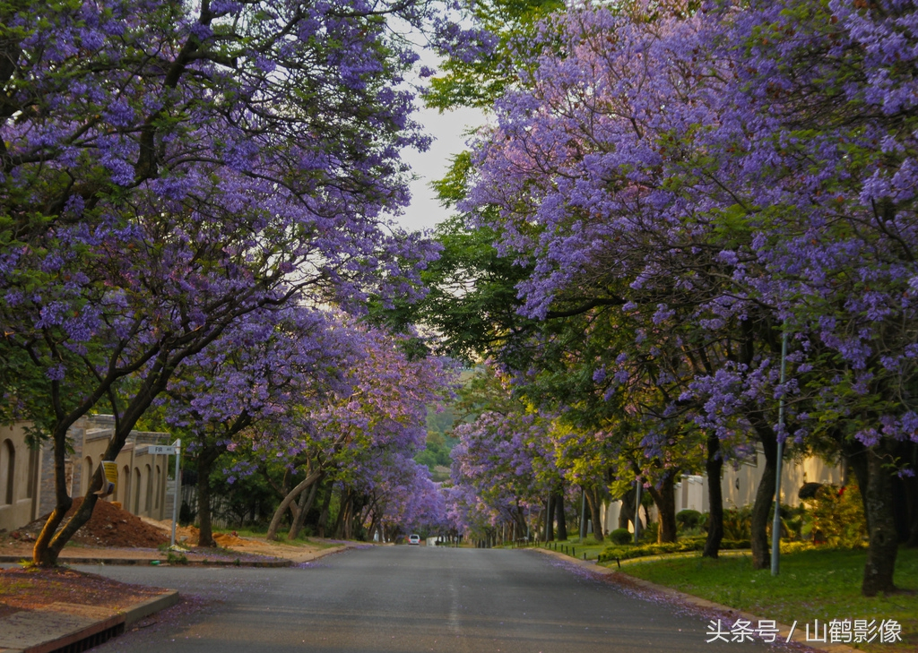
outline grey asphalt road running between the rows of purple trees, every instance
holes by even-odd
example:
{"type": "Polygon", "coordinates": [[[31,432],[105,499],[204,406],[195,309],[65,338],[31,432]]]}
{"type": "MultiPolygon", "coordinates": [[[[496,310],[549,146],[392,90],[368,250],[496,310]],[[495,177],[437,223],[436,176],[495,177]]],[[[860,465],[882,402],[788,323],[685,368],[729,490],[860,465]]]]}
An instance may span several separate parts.
{"type": "Polygon", "coordinates": [[[352,550],[294,569],[79,569],[191,597],[97,651],[761,649],[708,644],[705,618],[641,600],[534,551],[403,546],[352,550]]]}

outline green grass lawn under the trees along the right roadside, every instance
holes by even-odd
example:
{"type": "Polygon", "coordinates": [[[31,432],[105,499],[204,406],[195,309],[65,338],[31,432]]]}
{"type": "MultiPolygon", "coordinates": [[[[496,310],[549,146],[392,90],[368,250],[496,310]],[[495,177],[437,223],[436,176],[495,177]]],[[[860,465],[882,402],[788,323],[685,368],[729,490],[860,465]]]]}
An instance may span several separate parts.
{"type": "MultiPolygon", "coordinates": [[[[867,552],[813,549],[783,554],[780,574],[753,570],[747,555],[704,559],[700,555],[652,561],[632,561],[621,571],[680,592],[722,603],[761,619],[798,622],[794,641],[806,643],[803,626],[819,619],[894,619],[902,628],[900,644],[857,645],[868,651],[918,649],[918,594],[896,593],[867,599],[860,586],[867,552]],[[799,636],[799,638],[798,638],[799,636]]],[[[605,563],[616,568],[615,562],[605,563]]],[[[918,590],[918,550],[901,548],[895,582],[903,590],[918,590]]]]}

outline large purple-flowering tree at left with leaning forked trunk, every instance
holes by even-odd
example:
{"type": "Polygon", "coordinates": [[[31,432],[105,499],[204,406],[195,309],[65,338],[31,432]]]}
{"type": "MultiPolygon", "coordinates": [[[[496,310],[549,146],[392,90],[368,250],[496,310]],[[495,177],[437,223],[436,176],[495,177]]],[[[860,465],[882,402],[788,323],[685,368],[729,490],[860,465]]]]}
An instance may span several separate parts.
{"type": "MultiPolygon", "coordinates": [[[[241,315],[416,292],[431,256],[386,225],[423,149],[392,18],[460,43],[428,2],[0,3],[4,417],[54,444],[53,564],[88,518],[67,429],[116,415],[114,459],[174,372],[241,315]]],[[[97,474],[90,490],[101,482],[97,474]]]]}

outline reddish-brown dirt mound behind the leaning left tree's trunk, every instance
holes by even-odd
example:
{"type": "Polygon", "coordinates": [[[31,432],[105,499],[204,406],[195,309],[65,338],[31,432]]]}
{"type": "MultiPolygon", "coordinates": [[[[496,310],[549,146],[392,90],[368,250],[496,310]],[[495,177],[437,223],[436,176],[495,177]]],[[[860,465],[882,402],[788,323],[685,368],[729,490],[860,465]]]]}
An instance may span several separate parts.
{"type": "MultiPolygon", "coordinates": [[[[67,516],[73,515],[82,503],[82,496],[73,499],[73,507],[67,516]]],[[[44,515],[28,526],[18,529],[20,537],[13,537],[25,539],[26,537],[22,536],[38,535],[47,521],[48,515],[44,515]]],[[[93,516],[76,532],[72,541],[91,547],[157,548],[161,544],[169,544],[169,534],[145,524],[140,517],[131,515],[118,505],[97,501],[93,508],[93,516]]]]}

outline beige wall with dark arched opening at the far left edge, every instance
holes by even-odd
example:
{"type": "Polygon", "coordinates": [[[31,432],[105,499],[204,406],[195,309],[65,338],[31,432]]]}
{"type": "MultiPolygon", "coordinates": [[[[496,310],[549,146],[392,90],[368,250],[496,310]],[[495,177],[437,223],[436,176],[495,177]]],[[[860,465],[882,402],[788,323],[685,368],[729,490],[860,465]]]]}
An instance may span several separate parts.
{"type": "Polygon", "coordinates": [[[39,516],[42,452],[26,443],[28,424],[0,426],[0,529],[14,530],[39,516]]]}

